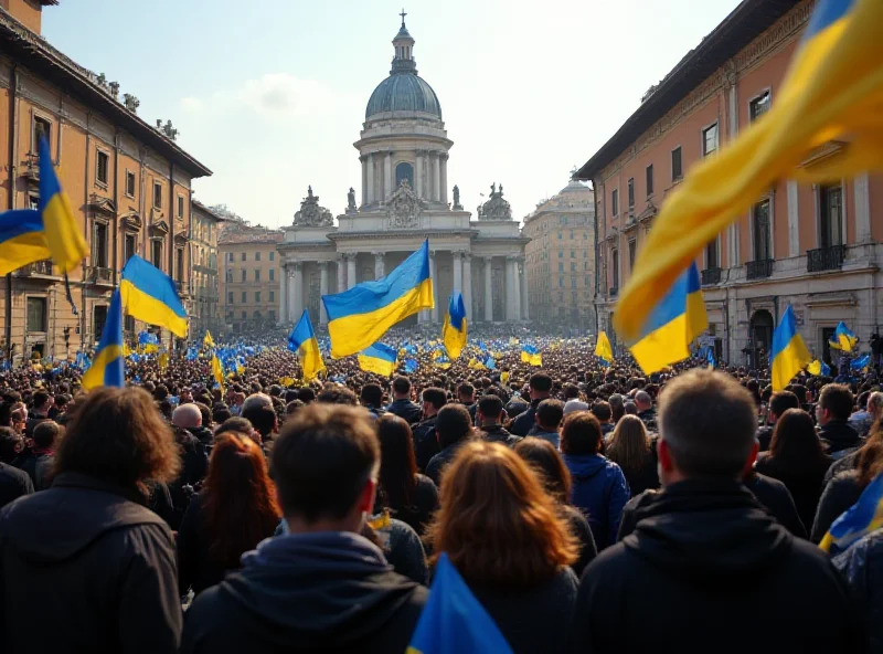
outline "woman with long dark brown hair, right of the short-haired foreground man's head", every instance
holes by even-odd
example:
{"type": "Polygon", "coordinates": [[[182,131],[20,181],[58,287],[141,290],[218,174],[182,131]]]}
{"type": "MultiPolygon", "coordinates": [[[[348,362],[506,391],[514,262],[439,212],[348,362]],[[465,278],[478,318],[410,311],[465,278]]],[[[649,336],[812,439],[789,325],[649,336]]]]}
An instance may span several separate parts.
{"type": "Polygon", "coordinates": [[[831,463],[809,413],[802,409],[788,409],[776,420],[769,452],[757,456],[755,470],[785,484],[800,521],[805,527],[811,527],[825,473],[831,463]]]}

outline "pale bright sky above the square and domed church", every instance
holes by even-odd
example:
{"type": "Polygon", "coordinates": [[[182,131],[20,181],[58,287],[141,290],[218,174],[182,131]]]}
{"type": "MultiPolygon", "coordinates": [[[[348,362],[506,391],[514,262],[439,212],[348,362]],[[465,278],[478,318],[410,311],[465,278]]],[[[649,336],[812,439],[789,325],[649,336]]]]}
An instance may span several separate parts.
{"type": "MultiPolygon", "coordinates": [[[[421,77],[454,141],[468,211],[503,183],[522,219],[568,181],[737,0],[406,0],[421,77]]],[[[43,35],[170,119],[213,175],[206,204],[291,224],[312,186],[361,197],[359,139],[390,71],[402,0],[62,0],[43,35]]],[[[450,197],[450,192],[449,192],[450,197]]]]}

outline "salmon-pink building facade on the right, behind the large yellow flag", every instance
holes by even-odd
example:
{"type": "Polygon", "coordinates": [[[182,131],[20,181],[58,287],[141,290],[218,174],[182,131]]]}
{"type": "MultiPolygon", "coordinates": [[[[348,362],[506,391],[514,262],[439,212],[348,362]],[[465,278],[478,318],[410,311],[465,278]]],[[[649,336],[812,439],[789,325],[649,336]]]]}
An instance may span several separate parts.
{"type": "MultiPolygon", "coordinates": [[[[690,167],[702,158],[703,129],[716,122],[720,147],[748,127],[754,98],[769,92],[775,106],[812,6],[811,0],[799,3],[711,77],[698,80],[678,105],[595,176],[602,328],[609,329],[618,288],[631,274],[628,242],[634,239],[640,251],[658,208],[679,182],[671,176],[672,149],[681,147],[682,169],[689,173],[690,167]],[[648,198],[646,167],[651,164],[655,188],[648,198]],[[631,210],[627,197],[629,178],[635,179],[636,188],[631,210]],[[614,190],[618,190],[618,211],[613,207],[614,190]]],[[[836,149],[838,145],[827,147],[836,149]]],[[[859,176],[829,186],[839,187],[842,194],[842,235],[836,239],[845,246],[842,263],[836,261],[839,243],[834,243],[838,247],[819,251],[823,245],[822,187],[785,179],[758,198],[758,202],[768,201],[770,208],[766,251],[773,263],[768,271],[764,270],[764,262],[755,261],[765,249],[759,246],[762,231],[755,228],[753,211],[719,235],[716,266],[705,251],[698,257],[710,333],[719,340],[723,360],[760,360],[758,348],[766,352],[770,345],[772,331],[766,331],[766,323],[777,324],[789,303],[804,339],[816,356],[828,355],[826,330],[839,320],[845,320],[865,344],[877,330],[881,315],[876,288],[881,279],[874,262],[881,254],[883,235],[883,179],[859,176]]]]}

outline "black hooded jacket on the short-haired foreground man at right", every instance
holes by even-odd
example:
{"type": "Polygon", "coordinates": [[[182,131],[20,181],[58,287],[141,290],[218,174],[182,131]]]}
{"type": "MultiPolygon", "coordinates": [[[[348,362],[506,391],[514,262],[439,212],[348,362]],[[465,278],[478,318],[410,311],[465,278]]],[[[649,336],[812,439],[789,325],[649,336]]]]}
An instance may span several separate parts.
{"type": "Polygon", "coordinates": [[[826,556],[735,481],[656,494],[634,534],[583,574],[571,636],[571,651],[593,654],[864,650],[826,556]]]}

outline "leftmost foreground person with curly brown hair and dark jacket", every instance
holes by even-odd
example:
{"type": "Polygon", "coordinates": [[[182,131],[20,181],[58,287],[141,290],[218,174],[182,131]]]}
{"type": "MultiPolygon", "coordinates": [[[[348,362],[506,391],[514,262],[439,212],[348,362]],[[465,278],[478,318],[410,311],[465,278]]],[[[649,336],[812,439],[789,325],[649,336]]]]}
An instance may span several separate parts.
{"type": "Polygon", "coordinates": [[[100,388],[77,401],[52,486],[0,517],[0,651],[178,651],[174,539],[145,502],[148,483],[173,479],[180,465],[145,390],[100,388]]]}

